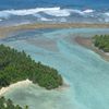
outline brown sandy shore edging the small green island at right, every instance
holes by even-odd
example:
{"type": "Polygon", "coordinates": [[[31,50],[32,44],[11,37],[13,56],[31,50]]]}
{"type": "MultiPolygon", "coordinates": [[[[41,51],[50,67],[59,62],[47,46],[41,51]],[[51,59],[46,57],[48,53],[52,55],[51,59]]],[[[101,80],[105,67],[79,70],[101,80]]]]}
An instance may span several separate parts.
{"type": "Polygon", "coordinates": [[[97,47],[95,47],[92,43],[92,38],[85,38],[85,37],[75,37],[75,41],[87,48],[90,49],[93,51],[95,51],[97,55],[99,55],[102,59],[105,59],[106,61],[109,61],[109,52],[104,52],[101,50],[99,50],[97,47]]]}

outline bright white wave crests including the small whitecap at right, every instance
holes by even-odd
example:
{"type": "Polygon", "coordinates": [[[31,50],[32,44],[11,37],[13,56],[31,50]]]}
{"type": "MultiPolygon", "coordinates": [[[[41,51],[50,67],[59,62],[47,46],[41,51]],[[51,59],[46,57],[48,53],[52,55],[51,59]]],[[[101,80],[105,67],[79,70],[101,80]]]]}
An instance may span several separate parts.
{"type": "Polygon", "coordinates": [[[39,12],[46,13],[52,16],[70,16],[71,13],[86,14],[92,13],[94,10],[73,10],[73,9],[61,9],[61,8],[36,8],[36,9],[27,9],[27,10],[3,10],[0,11],[0,17],[8,17],[10,15],[35,15],[39,12]]]}

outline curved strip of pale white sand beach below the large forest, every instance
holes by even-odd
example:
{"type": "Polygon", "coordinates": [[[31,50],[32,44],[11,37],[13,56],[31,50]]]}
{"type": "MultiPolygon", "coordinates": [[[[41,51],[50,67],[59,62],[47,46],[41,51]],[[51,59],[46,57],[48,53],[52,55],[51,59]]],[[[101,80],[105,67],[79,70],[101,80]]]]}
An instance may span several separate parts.
{"type": "Polygon", "coordinates": [[[0,96],[4,95],[7,92],[9,92],[10,89],[14,88],[14,87],[19,87],[19,86],[26,86],[28,84],[32,84],[32,81],[29,80],[26,80],[26,81],[21,81],[21,82],[17,82],[15,84],[11,84],[10,86],[8,87],[2,87],[0,89],[0,96]]]}

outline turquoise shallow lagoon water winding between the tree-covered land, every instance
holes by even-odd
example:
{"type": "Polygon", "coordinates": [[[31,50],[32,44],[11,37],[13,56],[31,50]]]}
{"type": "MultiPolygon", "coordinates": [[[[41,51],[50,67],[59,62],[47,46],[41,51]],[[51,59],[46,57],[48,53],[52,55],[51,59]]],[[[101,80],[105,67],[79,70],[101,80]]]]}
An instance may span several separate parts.
{"type": "Polygon", "coordinates": [[[76,36],[95,34],[109,34],[109,29],[35,29],[1,40],[56,68],[70,85],[60,90],[46,90],[31,84],[12,88],[5,97],[31,109],[109,109],[109,62],[74,41],[76,36]]]}

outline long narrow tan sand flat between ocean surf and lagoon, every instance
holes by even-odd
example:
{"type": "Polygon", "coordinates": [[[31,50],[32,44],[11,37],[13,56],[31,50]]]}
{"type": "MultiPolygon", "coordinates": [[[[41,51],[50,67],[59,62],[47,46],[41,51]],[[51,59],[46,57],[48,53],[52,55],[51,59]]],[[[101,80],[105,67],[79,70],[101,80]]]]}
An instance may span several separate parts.
{"type": "Polygon", "coordinates": [[[88,23],[61,23],[61,24],[24,24],[19,26],[0,27],[0,37],[8,36],[9,33],[24,29],[35,28],[70,28],[70,27],[94,27],[94,28],[109,28],[109,24],[88,24],[88,23]]]}

